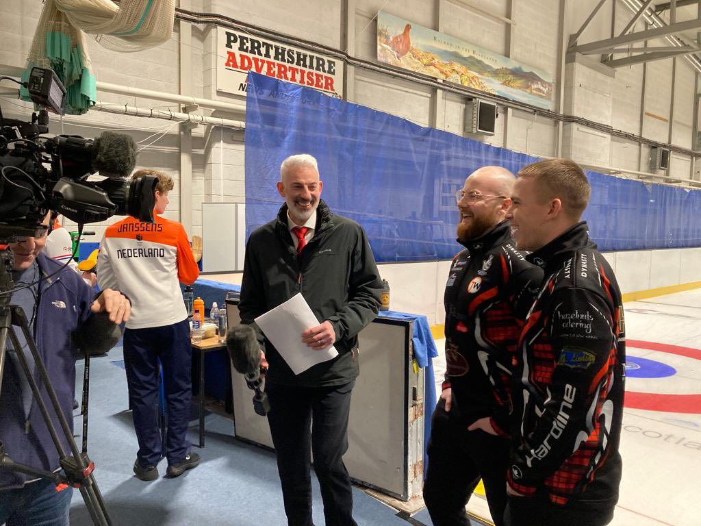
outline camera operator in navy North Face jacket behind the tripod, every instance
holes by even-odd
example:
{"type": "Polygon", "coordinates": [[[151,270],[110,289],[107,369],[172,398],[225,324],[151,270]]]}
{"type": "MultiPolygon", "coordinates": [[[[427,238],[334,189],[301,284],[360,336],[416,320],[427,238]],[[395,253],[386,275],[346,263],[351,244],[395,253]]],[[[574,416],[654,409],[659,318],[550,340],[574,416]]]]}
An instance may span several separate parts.
{"type": "MultiPolygon", "coordinates": [[[[44,226],[48,221],[49,215],[44,226]]],[[[119,325],[129,319],[131,304],[120,292],[110,289],[95,297],[95,290],[81,276],[68,267],[62,269],[41,253],[46,237],[45,232],[9,245],[15,282],[11,304],[25,312],[64,416],[72,426],[75,361],[82,342],[90,342],[91,348],[102,346],[105,351],[114,346],[121,336],[119,325]],[[22,285],[30,286],[20,288],[22,285]]],[[[24,335],[19,329],[15,332],[29,369],[36,372],[24,335]]],[[[15,462],[59,471],[55,445],[9,338],[5,361],[0,393],[0,440],[4,450],[15,462]]],[[[39,390],[46,397],[46,386],[41,382],[39,390]]],[[[55,415],[52,420],[58,428],[55,415]]],[[[68,450],[66,439],[60,436],[60,440],[68,450]]],[[[53,482],[0,470],[0,524],[68,525],[71,494],[70,489],[57,492],[53,482]]]]}

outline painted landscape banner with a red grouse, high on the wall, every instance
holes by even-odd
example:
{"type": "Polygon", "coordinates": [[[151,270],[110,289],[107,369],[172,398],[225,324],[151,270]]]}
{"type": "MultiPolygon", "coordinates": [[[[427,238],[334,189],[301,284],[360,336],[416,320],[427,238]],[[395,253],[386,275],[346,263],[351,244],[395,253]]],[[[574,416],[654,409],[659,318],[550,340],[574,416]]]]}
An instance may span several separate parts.
{"type": "Polygon", "coordinates": [[[382,11],[377,14],[377,60],[552,109],[550,73],[382,11]]]}

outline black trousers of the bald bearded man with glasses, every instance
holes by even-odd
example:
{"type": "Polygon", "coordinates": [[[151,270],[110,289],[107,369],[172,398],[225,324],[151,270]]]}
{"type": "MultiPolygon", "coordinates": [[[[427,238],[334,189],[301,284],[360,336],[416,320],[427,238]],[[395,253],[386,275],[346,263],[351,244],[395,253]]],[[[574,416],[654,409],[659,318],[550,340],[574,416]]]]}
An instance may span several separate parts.
{"type": "Polygon", "coordinates": [[[492,520],[503,526],[508,440],[479,429],[468,431],[456,406],[446,412],[440,400],[433,413],[427,452],[423,501],[434,526],[470,525],[465,505],[480,478],[492,520]]]}

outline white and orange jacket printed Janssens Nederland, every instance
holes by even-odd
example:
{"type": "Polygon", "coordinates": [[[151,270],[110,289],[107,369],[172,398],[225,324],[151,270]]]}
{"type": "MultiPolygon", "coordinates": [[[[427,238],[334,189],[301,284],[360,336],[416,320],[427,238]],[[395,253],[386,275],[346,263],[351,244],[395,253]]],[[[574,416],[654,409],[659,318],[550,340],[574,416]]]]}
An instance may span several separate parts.
{"type": "Polygon", "coordinates": [[[128,329],[172,325],[187,318],[179,282],[200,274],[182,224],[154,215],[154,223],[127,217],[104,233],[97,283],[129,297],[128,329]]]}

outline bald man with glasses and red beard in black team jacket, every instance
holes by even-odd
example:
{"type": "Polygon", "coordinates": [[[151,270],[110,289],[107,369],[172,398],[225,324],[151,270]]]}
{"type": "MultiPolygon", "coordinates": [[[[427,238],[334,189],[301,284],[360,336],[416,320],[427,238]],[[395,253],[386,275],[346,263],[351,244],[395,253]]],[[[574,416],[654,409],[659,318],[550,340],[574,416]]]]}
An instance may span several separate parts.
{"type": "Polygon", "coordinates": [[[516,344],[543,271],[515,249],[506,215],[515,177],[485,166],[456,194],[458,242],[444,304],[447,370],[433,414],[423,499],[435,526],[469,526],[465,505],[484,481],[503,525],[516,344]]]}

